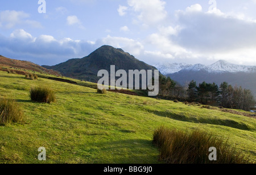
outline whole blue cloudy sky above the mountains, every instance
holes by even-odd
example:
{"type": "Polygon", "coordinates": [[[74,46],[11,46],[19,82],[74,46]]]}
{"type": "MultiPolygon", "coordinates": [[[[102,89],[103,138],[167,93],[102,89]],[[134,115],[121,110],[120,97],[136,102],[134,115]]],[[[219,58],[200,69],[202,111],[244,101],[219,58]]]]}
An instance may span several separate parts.
{"type": "Polygon", "coordinates": [[[0,1],[0,54],[39,65],[102,45],[150,65],[220,59],[256,66],[256,0],[0,1]],[[38,9],[39,8],[39,9],[38,9]]]}

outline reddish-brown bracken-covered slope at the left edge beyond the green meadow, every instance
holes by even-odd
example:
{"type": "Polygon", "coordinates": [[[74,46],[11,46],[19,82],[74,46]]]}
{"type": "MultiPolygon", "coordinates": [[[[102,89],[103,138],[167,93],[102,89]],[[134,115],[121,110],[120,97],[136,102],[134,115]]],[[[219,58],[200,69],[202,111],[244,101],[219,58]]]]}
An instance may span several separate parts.
{"type": "Polygon", "coordinates": [[[35,63],[29,62],[29,61],[20,61],[17,59],[6,58],[0,55],[0,69],[3,70],[10,67],[15,69],[42,72],[44,74],[60,75],[59,72],[46,69],[45,67],[36,65],[35,63]]]}

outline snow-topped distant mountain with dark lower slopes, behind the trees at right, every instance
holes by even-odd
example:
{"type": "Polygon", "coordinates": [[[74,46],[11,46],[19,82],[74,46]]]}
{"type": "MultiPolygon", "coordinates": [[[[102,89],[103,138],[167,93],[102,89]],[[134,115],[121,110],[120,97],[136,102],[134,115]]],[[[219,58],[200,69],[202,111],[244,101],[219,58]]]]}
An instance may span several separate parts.
{"type": "Polygon", "coordinates": [[[180,84],[187,84],[191,80],[197,83],[228,82],[232,86],[241,86],[250,89],[256,97],[256,66],[235,65],[223,60],[212,65],[196,64],[178,72],[167,74],[171,79],[180,84]]]}

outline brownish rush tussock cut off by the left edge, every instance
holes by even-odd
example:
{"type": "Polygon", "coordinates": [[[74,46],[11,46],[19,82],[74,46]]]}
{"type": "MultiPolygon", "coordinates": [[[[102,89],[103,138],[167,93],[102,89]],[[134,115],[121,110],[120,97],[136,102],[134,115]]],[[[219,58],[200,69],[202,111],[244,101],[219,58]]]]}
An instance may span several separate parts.
{"type": "Polygon", "coordinates": [[[0,123],[23,122],[23,111],[15,100],[0,99],[0,123]]]}

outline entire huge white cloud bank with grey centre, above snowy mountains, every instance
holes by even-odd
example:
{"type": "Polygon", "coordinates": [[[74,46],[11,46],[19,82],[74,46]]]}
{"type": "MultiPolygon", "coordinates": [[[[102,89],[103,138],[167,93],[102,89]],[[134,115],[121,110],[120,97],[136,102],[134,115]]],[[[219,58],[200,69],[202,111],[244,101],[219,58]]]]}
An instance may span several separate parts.
{"type": "MultiPolygon", "coordinates": [[[[225,59],[234,63],[256,64],[256,22],[218,9],[203,12],[201,5],[176,11],[176,20],[158,27],[143,44],[144,55],[155,59],[175,59],[207,63],[225,59]]],[[[144,57],[144,56],[143,56],[144,57]]]]}

